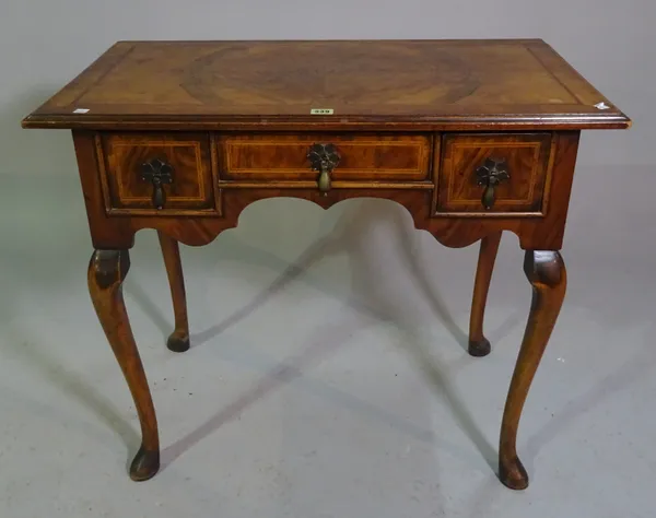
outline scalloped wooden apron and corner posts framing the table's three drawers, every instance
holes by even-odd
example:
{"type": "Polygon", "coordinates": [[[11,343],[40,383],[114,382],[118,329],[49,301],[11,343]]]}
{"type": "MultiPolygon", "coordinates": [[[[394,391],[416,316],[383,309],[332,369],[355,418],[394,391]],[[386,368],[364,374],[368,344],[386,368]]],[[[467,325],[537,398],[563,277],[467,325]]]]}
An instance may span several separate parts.
{"type": "MultiPolygon", "coordinates": [[[[207,245],[225,228],[236,226],[241,212],[250,203],[273,197],[303,198],[324,209],[351,198],[374,197],[396,201],[408,209],[418,228],[433,234],[443,245],[464,247],[481,239],[490,233],[511,231],[519,237],[522,248],[558,250],[567,213],[572,177],[578,148],[578,132],[563,131],[554,136],[554,157],[550,180],[550,197],[559,202],[552,204],[542,217],[493,217],[489,214],[475,214],[471,217],[449,217],[435,212],[432,189],[424,184],[406,184],[405,188],[370,186],[362,188],[335,188],[320,196],[316,183],[301,186],[260,183],[249,187],[221,188],[221,215],[199,217],[194,214],[156,213],[151,215],[132,214],[130,217],[107,214],[104,209],[99,183],[94,133],[74,131],[75,151],[80,178],[85,192],[87,215],[94,246],[99,249],[130,248],[134,233],[140,228],[155,228],[165,232],[174,239],[191,246],[207,245]],[[184,216],[184,217],[180,217],[184,216]]],[[[337,187],[337,184],[335,184],[337,187]]]]}

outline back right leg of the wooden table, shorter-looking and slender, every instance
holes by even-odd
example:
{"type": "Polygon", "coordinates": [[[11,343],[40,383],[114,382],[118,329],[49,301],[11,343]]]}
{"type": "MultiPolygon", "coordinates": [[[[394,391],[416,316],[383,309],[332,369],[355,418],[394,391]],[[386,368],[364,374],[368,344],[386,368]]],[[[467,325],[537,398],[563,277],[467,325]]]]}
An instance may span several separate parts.
{"type": "Polygon", "coordinates": [[[473,283],[473,298],[469,317],[469,345],[468,351],[472,356],[487,356],[490,354],[490,341],[483,334],[483,317],[488,302],[488,291],[494,270],[494,261],[501,243],[501,232],[494,232],[481,239],[476,280],[473,283]]]}

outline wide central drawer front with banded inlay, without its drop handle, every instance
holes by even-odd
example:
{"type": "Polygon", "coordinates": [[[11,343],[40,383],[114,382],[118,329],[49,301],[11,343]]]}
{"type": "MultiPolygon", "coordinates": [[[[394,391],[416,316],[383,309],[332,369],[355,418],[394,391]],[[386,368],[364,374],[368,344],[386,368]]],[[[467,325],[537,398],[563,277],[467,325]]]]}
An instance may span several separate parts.
{"type": "Polygon", "coordinates": [[[333,144],[339,156],[332,180],[429,178],[432,138],[424,134],[222,136],[220,176],[226,180],[316,180],[307,154],[313,144],[333,144]]]}

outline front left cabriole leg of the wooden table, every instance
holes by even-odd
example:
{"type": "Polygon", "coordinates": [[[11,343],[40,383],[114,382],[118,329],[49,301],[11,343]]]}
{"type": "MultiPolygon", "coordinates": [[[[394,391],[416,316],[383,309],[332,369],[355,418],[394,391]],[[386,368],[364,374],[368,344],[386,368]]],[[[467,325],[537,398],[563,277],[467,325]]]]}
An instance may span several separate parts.
{"type": "Polygon", "coordinates": [[[122,297],[129,269],[128,250],[96,250],[89,263],[89,291],[139,414],[142,442],[130,466],[130,478],[143,481],[160,469],[160,438],[155,408],[122,297]]]}

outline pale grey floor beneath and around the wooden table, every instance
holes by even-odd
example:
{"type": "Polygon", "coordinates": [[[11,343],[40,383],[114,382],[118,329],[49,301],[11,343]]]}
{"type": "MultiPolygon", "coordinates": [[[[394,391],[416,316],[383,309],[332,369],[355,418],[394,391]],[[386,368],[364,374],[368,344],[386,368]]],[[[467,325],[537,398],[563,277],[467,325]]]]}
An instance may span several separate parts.
{"type": "Polygon", "coordinates": [[[494,474],[530,290],[505,234],[493,352],[464,350],[477,247],[453,250],[385,201],[251,205],[184,248],[192,349],[153,232],[125,285],[163,469],[133,483],[127,387],[85,285],[77,179],[3,181],[0,516],[652,517],[656,268],[648,168],[577,174],[570,287],[524,413],[525,492],[494,474]],[[37,202],[35,202],[35,197],[37,202]],[[31,200],[26,202],[26,200],[31,200]]]}

